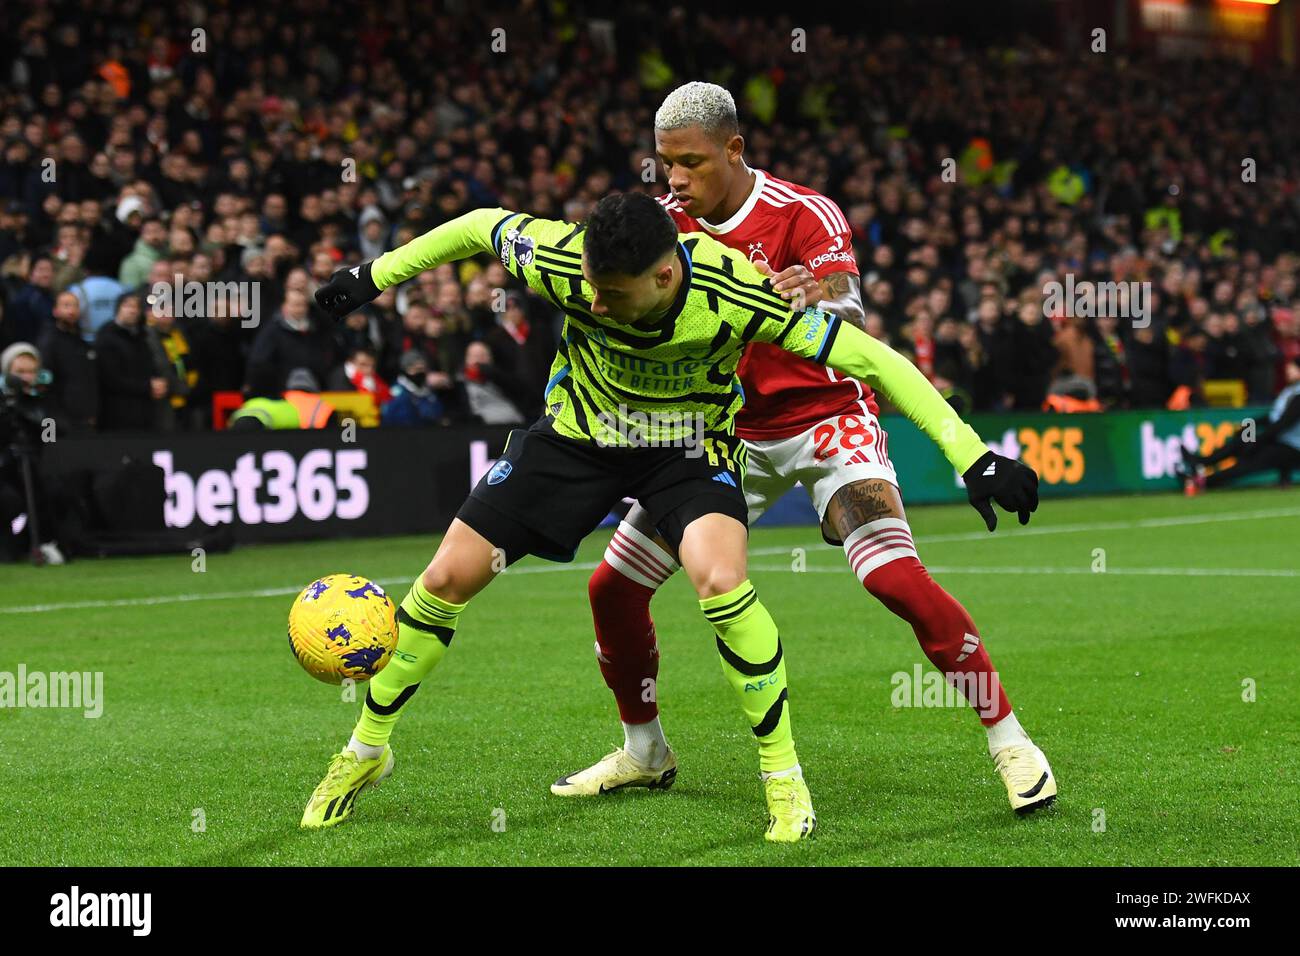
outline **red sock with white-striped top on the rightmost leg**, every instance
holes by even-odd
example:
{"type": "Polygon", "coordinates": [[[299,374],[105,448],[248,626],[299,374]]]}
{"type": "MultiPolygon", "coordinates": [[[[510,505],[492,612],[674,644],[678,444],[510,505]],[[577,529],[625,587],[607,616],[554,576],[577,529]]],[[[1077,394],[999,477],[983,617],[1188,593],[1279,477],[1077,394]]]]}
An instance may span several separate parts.
{"type": "Polygon", "coordinates": [[[845,541],[845,551],[867,591],[911,624],[926,657],[962,691],[980,723],[987,727],[1011,713],[975,622],[930,576],[905,522],[883,519],[863,525],[845,541]]]}

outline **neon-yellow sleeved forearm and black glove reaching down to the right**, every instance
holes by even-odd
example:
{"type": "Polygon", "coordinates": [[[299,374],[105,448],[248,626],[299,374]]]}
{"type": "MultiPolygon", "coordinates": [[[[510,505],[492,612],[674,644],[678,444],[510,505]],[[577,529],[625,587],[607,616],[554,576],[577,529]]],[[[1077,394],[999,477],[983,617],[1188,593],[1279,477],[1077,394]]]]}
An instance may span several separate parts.
{"type": "Polygon", "coordinates": [[[837,372],[862,378],[888,398],[942,450],[966,483],[966,494],[989,531],[997,527],[991,502],[1014,511],[1020,524],[1039,506],[1039,476],[1014,458],[1005,458],[980,437],[914,364],[861,329],[835,323],[824,362],[837,372]]]}

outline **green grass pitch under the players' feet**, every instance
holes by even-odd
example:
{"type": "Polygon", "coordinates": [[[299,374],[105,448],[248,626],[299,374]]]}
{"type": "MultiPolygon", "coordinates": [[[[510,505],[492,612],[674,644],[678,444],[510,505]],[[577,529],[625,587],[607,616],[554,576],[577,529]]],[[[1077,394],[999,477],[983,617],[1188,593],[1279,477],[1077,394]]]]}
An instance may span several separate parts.
{"type": "Polygon", "coordinates": [[[1300,493],[1000,518],[988,535],[966,506],[910,514],[1052,761],[1046,813],[1014,817],[965,705],[892,705],[924,657],[812,528],[757,529],[750,567],[816,839],[763,842],[755,745],[681,575],[654,604],[676,786],[551,796],[621,743],[586,609],[602,531],[573,566],[526,561],[480,596],[394,735],[395,775],[343,826],[299,831],[359,705],[294,662],[291,593],[347,570],[400,598],[434,548],[404,537],[243,548],[203,574],[188,555],[0,571],[0,671],[104,674],[98,719],[0,710],[0,864],[1300,864],[1300,493]]]}

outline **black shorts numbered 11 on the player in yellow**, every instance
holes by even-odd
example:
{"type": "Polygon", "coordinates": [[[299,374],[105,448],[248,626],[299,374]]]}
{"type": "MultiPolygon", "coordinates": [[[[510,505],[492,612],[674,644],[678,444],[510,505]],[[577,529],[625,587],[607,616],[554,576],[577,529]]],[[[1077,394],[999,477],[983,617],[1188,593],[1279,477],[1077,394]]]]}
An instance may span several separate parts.
{"type": "Polygon", "coordinates": [[[698,446],[602,447],[556,434],[549,419],[516,429],[456,514],[514,563],[525,554],[573,561],[578,544],[624,497],[636,498],[676,549],[707,514],[748,523],[745,446],[707,434],[698,446]]]}

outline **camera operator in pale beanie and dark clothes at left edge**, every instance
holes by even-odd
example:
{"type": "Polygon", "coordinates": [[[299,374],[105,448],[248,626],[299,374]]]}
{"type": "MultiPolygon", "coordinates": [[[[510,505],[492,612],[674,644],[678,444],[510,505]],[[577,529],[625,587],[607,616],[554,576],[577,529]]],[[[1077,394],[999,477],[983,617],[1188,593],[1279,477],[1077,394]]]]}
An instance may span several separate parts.
{"type": "Polygon", "coordinates": [[[30,553],[38,564],[62,564],[55,541],[56,492],[39,475],[48,382],[35,346],[14,342],[0,352],[0,557],[13,561],[30,553]],[[35,546],[25,548],[25,541],[35,546]]]}

